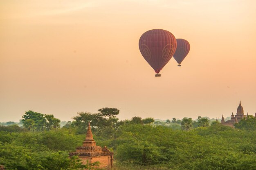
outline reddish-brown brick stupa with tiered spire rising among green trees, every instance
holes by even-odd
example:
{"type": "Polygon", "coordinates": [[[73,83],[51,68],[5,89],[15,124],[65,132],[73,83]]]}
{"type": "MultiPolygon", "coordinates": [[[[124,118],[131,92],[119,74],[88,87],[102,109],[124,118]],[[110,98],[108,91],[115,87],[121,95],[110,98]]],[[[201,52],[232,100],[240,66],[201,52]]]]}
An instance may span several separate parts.
{"type": "Polygon", "coordinates": [[[87,160],[88,163],[99,161],[100,165],[97,168],[110,169],[112,167],[113,153],[110,152],[106,146],[101,148],[101,146],[96,145],[92,136],[90,122],[88,123],[88,129],[83,146],[76,147],[76,152],[70,153],[70,157],[75,155],[82,160],[83,164],[86,164],[87,160]]]}

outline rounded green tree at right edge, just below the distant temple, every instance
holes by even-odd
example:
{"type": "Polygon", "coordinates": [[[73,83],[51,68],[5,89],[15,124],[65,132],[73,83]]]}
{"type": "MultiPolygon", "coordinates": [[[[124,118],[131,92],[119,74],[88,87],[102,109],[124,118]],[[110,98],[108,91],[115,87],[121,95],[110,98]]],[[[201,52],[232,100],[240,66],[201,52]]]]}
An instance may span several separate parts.
{"type": "Polygon", "coordinates": [[[248,115],[247,118],[243,118],[239,123],[236,123],[235,128],[247,131],[256,131],[256,117],[248,115]]]}

